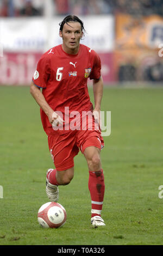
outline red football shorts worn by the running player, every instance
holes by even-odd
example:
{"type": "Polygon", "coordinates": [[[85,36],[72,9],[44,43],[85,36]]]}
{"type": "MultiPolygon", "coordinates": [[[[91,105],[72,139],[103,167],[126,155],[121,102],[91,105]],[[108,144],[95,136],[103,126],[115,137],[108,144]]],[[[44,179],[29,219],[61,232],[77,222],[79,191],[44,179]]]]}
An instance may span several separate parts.
{"type": "Polygon", "coordinates": [[[48,145],[57,170],[67,170],[74,166],[73,158],[87,147],[104,147],[103,137],[98,130],[74,130],[48,136],[48,145]]]}

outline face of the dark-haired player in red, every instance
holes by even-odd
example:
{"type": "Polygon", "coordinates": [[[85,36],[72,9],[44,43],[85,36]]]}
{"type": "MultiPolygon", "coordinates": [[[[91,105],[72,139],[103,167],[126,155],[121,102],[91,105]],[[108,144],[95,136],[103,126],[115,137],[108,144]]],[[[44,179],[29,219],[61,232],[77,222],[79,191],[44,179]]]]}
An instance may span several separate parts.
{"type": "Polygon", "coordinates": [[[64,24],[62,32],[60,31],[63,43],[62,47],[68,54],[77,54],[79,51],[80,39],[83,36],[82,27],[79,22],[70,21],[64,24]]]}

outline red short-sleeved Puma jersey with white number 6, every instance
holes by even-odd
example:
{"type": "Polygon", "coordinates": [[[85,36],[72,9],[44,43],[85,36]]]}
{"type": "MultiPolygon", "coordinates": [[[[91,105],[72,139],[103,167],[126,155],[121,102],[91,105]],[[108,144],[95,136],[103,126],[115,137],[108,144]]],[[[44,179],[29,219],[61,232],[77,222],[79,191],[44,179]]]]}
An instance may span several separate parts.
{"type": "MultiPolygon", "coordinates": [[[[98,54],[80,44],[79,52],[67,54],[58,45],[43,54],[37,64],[33,76],[35,86],[42,88],[42,94],[48,105],[55,111],[65,113],[90,111],[90,101],[87,79],[98,80],[101,77],[101,60],[98,54]]],[[[52,124],[45,112],[40,109],[43,129],[47,135],[55,135],[52,124]]]]}

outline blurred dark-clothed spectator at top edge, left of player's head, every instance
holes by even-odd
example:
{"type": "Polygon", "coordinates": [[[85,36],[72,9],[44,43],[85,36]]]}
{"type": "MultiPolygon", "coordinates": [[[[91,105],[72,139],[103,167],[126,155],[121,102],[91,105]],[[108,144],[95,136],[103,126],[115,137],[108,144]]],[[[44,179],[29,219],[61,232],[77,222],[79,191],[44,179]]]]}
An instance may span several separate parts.
{"type": "Polygon", "coordinates": [[[36,9],[33,6],[32,0],[25,0],[24,7],[20,10],[21,16],[40,16],[42,15],[41,10],[36,9]]]}

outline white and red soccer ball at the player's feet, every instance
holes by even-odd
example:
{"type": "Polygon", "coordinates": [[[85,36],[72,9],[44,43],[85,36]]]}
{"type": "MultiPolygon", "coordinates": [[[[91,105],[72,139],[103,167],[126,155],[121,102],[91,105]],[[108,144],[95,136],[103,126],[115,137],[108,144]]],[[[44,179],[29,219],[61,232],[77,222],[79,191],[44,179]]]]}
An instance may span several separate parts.
{"type": "Polygon", "coordinates": [[[37,214],[37,220],[43,228],[59,228],[66,222],[65,208],[55,202],[43,204],[37,214]]]}

